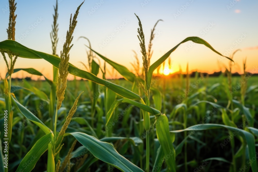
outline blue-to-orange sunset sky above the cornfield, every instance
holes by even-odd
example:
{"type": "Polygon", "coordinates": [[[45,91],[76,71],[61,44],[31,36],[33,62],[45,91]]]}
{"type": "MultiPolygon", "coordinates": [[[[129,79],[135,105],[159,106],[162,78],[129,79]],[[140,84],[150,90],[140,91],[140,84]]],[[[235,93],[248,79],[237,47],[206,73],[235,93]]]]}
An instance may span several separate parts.
{"type": "MultiPolygon", "coordinates": [[[[16,2],[16,41],[28,48],[52,54],[50,32],[55,0],[16,2]]],[[[80,3],[82,0],[58,0],[58,54],[65,42],[70,15],[75,13],[80,3]]],[[[142,63],[135,13],[142,22],[146,47],[154,24],[159,19],[163,20],[155,29],[151,64],[185,38],[198,36],[226,56],[241,49],[233,58],[233,72],[243,73],[243,60],[247,58],[247,71],[258,73],[257,9],[258,1],[255,0],[86,0],[77,18],[78,23],[72,41],[74,46],[70,51],[69,62],[81,69],[84,67],[80,62],[87,64],[85,44],[88,45],[88,42],[78,39],[84,36],[90,40],[95,51],[133,71],[130,64],[134,62],[132,50],[139,52],[138,56],[142,63]]],[[[9,4],[7,0],[1,0],[0,41],[7,39],[8,22],[9,4]]],[[[180,45],[170,58],[173,72],[178,71],[179,66],[186,72],[187,63],[190,71],[208,73],[224,70],[229,64],[228,59],[222,58],[204,45],[192,44],[190,41],[180,45]]],[[[100,60],[100,63],[103,66],[103,60],[100,60]]],[[[18,58],[15,68],[35,68],[50,79],[52,76],[51,64],[42,59],[18,58]]],[[[111,71],[110,66],[107,68],[111,71]]],[[[5,76],[6,72],[7,68],[1,55],[1,77],[5,76]]],[[[22,71],[12,75],[25,76],[28,74],[22,71]]]]}

